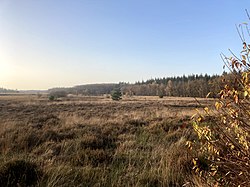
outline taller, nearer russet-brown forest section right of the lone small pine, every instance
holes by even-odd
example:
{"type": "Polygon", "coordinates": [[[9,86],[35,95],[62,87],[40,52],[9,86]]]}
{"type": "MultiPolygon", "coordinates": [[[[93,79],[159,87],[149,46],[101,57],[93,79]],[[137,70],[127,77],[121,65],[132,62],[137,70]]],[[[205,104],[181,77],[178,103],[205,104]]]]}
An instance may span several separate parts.
{"type": "Polygon", "coordinates": [[[222,87],[223,77],[219,75],[189,75],[155,78],[125,85],[123,93],[138,96],[215,97],[222,87]]]}

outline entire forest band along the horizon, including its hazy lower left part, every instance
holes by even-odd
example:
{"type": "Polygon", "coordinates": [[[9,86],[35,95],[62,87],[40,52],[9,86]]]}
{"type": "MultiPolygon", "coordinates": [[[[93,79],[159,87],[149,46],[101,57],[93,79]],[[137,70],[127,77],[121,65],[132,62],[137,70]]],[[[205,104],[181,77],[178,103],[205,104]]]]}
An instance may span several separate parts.
{"type": "Polygon", "coordinates": [[[176,97],[216,97],[222,89],[222,82],[230,74],[222,75],[189,75],[164,77],[138,81],[134,84],[120,82],[118,84],[89,84],[71,88],[52,88],[50,93],[63,92],[64,94],[104,95],[115,89],[120,89],[127,96],[176,96],[176,97]]]}

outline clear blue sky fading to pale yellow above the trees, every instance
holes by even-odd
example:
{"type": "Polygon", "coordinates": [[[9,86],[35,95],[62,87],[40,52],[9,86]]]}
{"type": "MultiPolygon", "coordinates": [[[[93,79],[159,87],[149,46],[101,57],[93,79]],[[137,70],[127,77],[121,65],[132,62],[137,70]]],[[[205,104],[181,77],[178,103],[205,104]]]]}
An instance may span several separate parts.
{"type": "Polygon", "coordinates": [[[249,0],[0,0],[0,87],[221,74],[249,0]]]}

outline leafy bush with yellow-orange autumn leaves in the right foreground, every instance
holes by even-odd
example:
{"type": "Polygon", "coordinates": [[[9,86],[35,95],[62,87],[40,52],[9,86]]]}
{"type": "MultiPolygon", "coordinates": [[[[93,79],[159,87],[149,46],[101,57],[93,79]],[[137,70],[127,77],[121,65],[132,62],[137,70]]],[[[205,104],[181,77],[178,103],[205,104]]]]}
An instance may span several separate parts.
{"type": "MultiPolygon", "coordinates": [[[[224,87],[215,109],[207,107],[208,116],[216,116],[213,123],[204,123],[198,113],[194,118],[194,130],[199,142],[202,159],[193,160],[197,173],[212,185],[248,186],[250,184],[250,45],[243,41],[241,57],[222,55],[231,79],[223,80],[224,87]],[[214,112],[215,111],[215,112],[214,112]],[[206,161],[206,169],[204,169],[206,161]],[[202,165],[202,166],[201,166],[202,165]]],[[[190,142],[187,143],[189,146],[190,142]]],[[[191,146],[190,146],[191,147],[191,146]]]]}

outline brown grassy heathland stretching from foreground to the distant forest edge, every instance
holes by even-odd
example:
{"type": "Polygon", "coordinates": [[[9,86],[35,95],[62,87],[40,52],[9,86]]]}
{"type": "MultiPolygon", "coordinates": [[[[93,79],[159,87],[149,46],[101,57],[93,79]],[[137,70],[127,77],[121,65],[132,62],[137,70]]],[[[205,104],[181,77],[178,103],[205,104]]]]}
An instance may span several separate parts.
{"type": "Polygon", "coordinates": [[[193,98],[0,96],[4,186],[202,186],[187,140],[193,98]]]}

